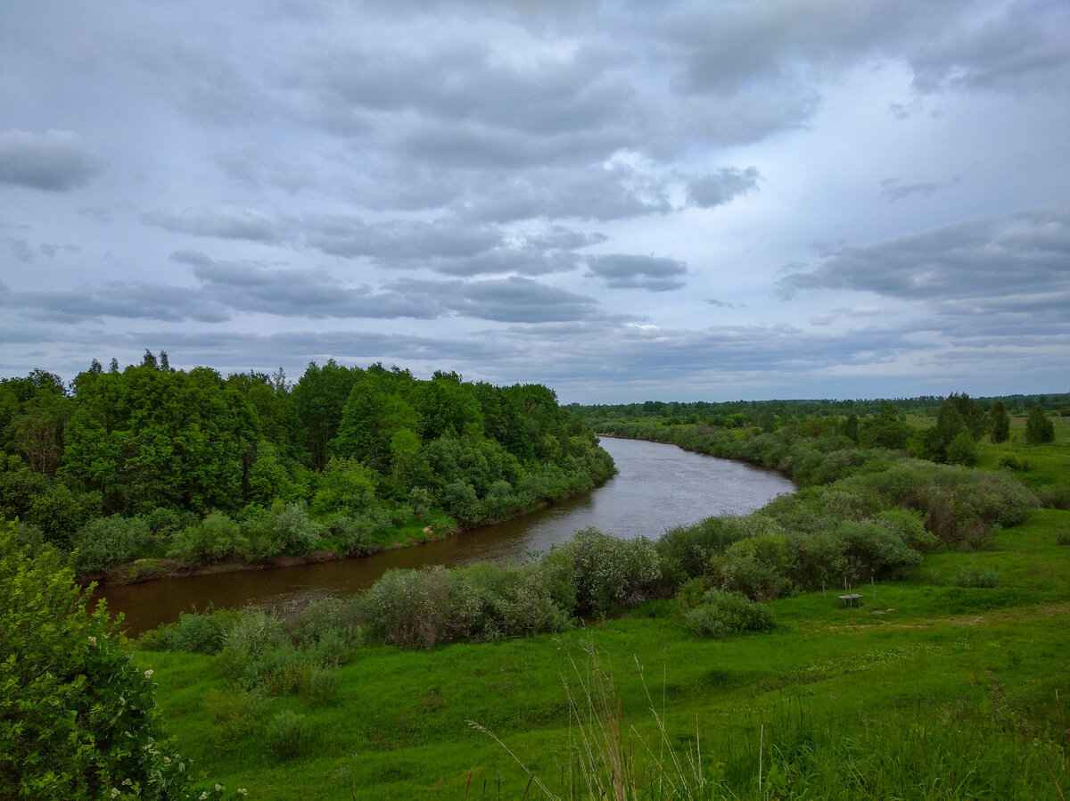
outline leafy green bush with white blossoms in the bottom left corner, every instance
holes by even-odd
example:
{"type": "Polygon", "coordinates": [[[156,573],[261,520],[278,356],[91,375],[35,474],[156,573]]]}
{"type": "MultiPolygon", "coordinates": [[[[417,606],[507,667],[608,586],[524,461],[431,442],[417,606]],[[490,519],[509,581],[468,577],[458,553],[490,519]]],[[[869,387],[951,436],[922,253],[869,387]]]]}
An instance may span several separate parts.
{"type": "Polygon", "coordinates": [[[61,565],[0,529],[0,797],[188,798],[185,762],[162,751],[152,670],[61,565]]]}

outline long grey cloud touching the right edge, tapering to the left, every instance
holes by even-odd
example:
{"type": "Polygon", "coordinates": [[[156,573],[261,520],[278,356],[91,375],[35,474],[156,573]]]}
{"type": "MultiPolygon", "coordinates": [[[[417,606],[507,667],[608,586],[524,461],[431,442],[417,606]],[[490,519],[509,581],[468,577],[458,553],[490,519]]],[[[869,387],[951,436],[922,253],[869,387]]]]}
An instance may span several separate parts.
{"type": "Polygon", "coordinates": [[[811,272],[779,282],[939,301],[1057,291],[1070,286],[1070,203],[954,223],[862,247],[835,247],[811,272]]]}

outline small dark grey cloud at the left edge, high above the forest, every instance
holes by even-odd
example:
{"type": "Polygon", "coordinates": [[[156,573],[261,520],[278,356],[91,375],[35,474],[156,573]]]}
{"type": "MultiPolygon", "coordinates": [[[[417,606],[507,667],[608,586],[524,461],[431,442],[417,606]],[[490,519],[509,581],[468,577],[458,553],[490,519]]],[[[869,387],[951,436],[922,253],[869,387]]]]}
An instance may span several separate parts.
{"type": "Polygon", "coordinates": [[[45,192],[86,186],[105,166],[71,131],[0,132],[0,181],[45,192]]]}

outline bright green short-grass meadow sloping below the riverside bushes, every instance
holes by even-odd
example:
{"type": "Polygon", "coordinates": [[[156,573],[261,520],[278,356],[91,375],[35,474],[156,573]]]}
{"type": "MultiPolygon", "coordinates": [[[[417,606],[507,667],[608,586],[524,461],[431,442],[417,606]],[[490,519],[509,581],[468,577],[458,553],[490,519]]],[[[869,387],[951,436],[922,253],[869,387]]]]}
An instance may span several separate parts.
{"type": "MultiPolygon", "coordinates": [[[[1013,447],[1030,464],[1027,482],[1070,480],[1066,434],[1031,453],[1013,447]]],[[[995,465],[1003,451],[984,447],[982,464],[995,465]]],[[[556,637],[364,649],[340,669],[332,701],[274,699],[249,716],[306,715],[305,756],[285,762],[266,755],[262,728],[245,737],[235,734],[240,723],[227,723],[234,696],[213,678],[213,658],[138,660],[156,670],[179,747],[213,782],[247,787],[248,798],[464,798],[467,783],[469,798],[498,798],[499,781],[501,798],[520,798],[526,773],[470,720],[565,796],[565,680],[575,687],[574,664],[587,670],[595,648],[635,727],[633,745],[649,737],[659,749],[638,663],[655,706],[664,704],[669,743],[683,756],[698,730],[703,774],[723,779],[737,797],[759,797],[761,739],[764,797],[791,788],[797,797],[866,798],[866,776],[881,774],[881,795],[901,786],[904,797],[1057,799],[1070,794],[1070,546],[1055,544],[1058,530],[1070,530],[1070,512],[1037,510],[988,550],[931,554],[914,580],[877,584],[875,601],[863,589],[854,609],[832,591],[782,599],[769,635],[700,640],[668,604],[652,602],[556,637]],[[972,565],[998,573],[1000,586],[956,587],[972,565]],[[992,727],[997,734],[985,739],[992,727]],[[1038,735],[1048,744],[1039,750],[1028,743],[1038,735]],[[957,766],[959,756],[966,764],[957,766]],[[801,764],[789,785],[784,775],[801,764]],[[987,777],[972,785],[972,770],[987,777]]]]}

